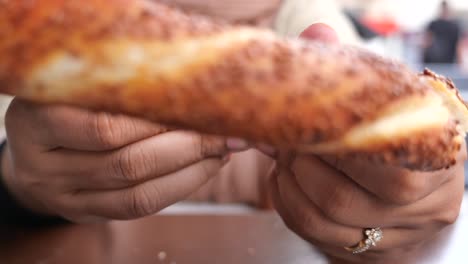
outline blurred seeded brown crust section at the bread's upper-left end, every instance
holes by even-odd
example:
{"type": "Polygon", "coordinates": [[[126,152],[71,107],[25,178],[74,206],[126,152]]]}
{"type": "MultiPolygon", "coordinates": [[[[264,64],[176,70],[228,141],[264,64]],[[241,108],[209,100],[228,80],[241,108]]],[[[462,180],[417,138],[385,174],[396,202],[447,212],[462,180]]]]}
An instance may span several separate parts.
{"type": "Polygon", "coordinates": [[[0,84],[15,89],[11,85],[58,47],[80,54],[102,40],[170,41],[226,26],[146,1],[0,1],[0,84]]]}

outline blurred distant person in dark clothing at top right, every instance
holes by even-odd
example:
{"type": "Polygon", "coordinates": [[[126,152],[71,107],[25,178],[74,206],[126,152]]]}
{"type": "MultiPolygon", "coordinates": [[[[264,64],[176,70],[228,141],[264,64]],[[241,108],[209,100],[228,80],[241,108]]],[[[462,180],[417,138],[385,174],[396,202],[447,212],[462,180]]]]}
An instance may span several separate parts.
{"type": "Polygon", "coordinates": [[[429,24],[425,34],[424,63],[457,63],[461,28],[447,1],[442,1],[439,17],[429,24]]]}

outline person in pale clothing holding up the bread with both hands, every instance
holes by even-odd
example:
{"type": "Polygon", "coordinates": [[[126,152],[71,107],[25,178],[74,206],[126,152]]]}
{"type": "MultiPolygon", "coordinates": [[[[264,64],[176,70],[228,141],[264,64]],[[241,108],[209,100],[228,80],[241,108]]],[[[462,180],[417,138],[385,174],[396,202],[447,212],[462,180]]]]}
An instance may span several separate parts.
{"type": "MultiPolygon", "coordinates": [[[[335,1],[167,2],[326,45],[360,42],[335,1]]],[[[292,231],[338,263],[401,263],[457,219],[464,194],[462,162],[414,172],[360,157],[290,155],[242,139],[18,99],[6,128],[0,220],[16,224],[137,219],[187,199],[243,203],[276,209],[292,231]],[[349,252],[345,247],[361,245],[369,227],[381,227],[383,240],[363,254],[349,252]]]]}

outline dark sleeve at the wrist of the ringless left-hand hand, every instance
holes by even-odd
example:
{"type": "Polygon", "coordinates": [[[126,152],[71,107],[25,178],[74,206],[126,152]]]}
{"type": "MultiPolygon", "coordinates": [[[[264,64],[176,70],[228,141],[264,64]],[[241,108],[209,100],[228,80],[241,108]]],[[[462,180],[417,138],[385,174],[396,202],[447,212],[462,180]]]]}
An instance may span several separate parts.
{"type": "MultiPolygon", "coordinates": [[[[6,141],[0,145],[0,157],[5,148],[6,141]]],[[[0,170],[1,172],[1,170],[0,170]]],[[[48,225],[65,224],[66,220],[59,217],[46,217],[35,214],[18,204],[6,187],[3,176],[0,174],[0,224],[5,226],[40,227],[48,225]]]]}

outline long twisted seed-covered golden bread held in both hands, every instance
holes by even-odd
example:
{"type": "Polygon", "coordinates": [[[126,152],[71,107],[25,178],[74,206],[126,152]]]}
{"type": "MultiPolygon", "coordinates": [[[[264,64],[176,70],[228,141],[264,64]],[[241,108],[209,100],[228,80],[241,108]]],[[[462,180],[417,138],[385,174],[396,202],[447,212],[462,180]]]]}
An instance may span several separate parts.
{"type": "Polygon", "coordinates": [[[0,92],[315,154],[454,164],[453,84],[366,51],[144,0],[0,0],[0,92]]]}

